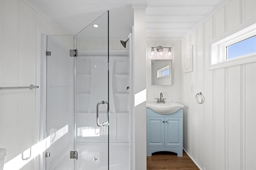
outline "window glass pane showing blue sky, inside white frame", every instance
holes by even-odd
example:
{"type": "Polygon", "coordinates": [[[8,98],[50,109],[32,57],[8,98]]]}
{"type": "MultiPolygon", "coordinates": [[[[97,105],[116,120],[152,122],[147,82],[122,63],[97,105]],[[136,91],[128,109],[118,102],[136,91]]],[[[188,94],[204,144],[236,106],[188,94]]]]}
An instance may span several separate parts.
{"type": "Polygon", "coordinates": [[[229,45],[227,48],[226,59],[234,59],[244,55],[256,53],[256,35],[229,45]]]}

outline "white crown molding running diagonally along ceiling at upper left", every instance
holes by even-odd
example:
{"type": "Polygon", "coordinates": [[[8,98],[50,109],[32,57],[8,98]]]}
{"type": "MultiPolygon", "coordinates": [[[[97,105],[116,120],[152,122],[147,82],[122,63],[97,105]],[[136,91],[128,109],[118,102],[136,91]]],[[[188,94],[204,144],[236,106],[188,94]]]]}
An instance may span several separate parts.
{"type": "Polygon", "coordinates": [[[47,15],[45,12],[43,12],[36,4],[34,4],[33,2],[31,2],[30,0],[22,0],[24,3],[26,3],[28,6],[30,6],[30,8],[32,8],[33,10],[35,10],[38,14],[40,14],[42,17],[44,17],[44,19],[46,19],[47,21],[49,21],[50,23],[52,23],[52,25],[54,25],[55,27],[57,27],[58,29],[60,29],[63,33],[66,33],[66,31],[64,31],[62,29],[62,27],[60,27],[60,25],[58,23],[56,23],[56,21],[52,20],[52,18],[47,15]]]}

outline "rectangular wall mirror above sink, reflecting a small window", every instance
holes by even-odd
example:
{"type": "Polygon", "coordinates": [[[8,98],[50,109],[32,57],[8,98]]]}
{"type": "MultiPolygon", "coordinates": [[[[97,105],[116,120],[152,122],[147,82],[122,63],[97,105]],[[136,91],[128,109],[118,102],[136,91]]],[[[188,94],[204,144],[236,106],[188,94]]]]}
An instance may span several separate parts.
{"type": "Polygon", "coordinates": [[[151,60],[151,84],[172,85],[172,60],[151,60]]]}

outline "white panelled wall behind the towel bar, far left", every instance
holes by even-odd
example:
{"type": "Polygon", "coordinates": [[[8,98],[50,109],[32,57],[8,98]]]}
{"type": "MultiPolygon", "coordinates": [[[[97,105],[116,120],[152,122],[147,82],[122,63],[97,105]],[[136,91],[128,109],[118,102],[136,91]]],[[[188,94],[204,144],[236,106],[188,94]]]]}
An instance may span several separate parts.
{"type": "MultiPolygon", "coordinates": [[[[62,32],[22,0],[0,0],[1,87],[35,84],[37,27],[47,34],[62,32]]],[[[0,147],[7,149],[5,162],[36,144],[36,90],[0,90],[0,147]]],[[[18,160],[23,161],[21,156],[18,160]]],[[[34,160],[22,169],[35,169],[34,160]]]]}

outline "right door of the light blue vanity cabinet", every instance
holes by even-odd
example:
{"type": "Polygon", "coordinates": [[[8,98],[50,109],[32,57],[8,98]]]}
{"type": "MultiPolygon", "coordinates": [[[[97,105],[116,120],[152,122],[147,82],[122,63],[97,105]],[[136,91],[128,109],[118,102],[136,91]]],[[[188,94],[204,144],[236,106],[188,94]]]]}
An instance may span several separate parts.
{"type": "Polygon", "coordinates": [[[183,147],[182,117],[165,117],[165,147],[183,147]]]}

